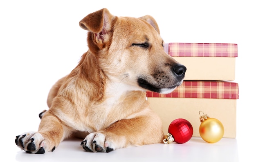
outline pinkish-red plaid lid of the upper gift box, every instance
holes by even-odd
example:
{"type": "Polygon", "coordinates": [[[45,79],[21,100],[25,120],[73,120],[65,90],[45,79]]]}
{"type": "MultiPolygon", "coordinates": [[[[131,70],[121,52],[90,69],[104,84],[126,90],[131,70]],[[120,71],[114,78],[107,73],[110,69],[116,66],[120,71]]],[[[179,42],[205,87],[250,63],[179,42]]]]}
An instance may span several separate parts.
{"type": "Polygon", "coordinates": [[[165,43],[164,51],[178,57],[237,57],[237,44],[165,43]]]}

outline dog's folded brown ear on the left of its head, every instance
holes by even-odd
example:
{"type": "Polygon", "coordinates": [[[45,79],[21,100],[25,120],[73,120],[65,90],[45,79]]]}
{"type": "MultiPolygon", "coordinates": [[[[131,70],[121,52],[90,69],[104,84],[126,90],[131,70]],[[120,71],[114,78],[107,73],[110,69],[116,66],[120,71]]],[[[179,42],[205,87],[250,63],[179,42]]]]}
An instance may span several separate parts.
{"type": "Polygon", "coordinates": [[[79,26],[82,29],[92,31],[94,33],[94,41],[103,43],[104,40],[108,41],[108,32],[112,27],[112,20],[115,18],[108,9],[103,8],[94,13],[85,16],[80,22],[79,26]]]}

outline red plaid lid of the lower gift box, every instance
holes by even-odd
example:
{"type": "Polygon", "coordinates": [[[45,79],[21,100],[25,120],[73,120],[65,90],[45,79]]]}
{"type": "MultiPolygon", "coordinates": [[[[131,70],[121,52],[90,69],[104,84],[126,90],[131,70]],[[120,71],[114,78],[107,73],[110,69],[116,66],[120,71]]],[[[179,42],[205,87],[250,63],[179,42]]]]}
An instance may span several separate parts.
{"type": "Polygon", "coordinates": [[[146,92],[147,97],[238,99],[238,84],[226,81],[183,81],[173,92],[146,92]]]}

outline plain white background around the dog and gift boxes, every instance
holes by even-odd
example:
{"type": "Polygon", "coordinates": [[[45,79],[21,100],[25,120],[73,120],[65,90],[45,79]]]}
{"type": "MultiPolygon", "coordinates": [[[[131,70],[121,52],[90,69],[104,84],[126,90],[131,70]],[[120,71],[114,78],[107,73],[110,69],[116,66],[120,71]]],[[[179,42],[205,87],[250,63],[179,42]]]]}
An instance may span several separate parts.
{"type": "MultiPolygon", "coordinates": [[[[234,157],[255,160],[253,0],[0,1],[0,159],[22,161],[19,157],[23,152],[16,147],[15,136],[37,130],[38,113],[47,109],[49,89],[76,66],[88,49],[87,33],[79,27],[79,21],[104,7],[116,16],[153,16],[165,42],[238,44],[234,80],[239,84],[238,155],[234,157]]],[[[193,142],[192,148],[193,144],[197,146],[193,142]]],[[[196,156],[201,153],[199,149],[196,156]]],[[[104,156],[109,158],[108,154],[104,156]]],[[[29,155],[28,159],[38,161],[38,157],[29,155]]]]}

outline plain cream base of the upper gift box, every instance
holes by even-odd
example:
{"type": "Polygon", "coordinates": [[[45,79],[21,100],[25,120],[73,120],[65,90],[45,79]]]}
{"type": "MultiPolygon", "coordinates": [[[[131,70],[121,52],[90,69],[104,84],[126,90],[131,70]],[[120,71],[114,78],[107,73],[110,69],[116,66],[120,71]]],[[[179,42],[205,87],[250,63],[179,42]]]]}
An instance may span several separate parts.
{"type": "Polygon", "coordinates": [[[235,80],[232,57],[173,57],[186,67],[184,80],[235,80]]]}

